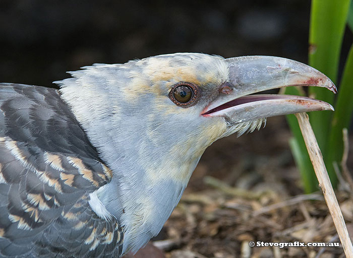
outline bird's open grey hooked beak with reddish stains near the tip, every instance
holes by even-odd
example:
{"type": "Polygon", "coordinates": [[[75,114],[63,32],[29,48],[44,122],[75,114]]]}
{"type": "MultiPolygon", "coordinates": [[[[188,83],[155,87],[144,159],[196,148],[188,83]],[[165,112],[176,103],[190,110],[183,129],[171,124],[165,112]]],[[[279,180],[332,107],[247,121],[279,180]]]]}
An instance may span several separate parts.
{"type": "Polygon", "coordinates": [[[325,87],[336,93],[332,81],[304,63],[275,56],[241,56],[225,59],[229,80],[203,110],[203,116],[224,116],[233,123],[316,110],[334,110],[321,100],[302,96],[256,94],[288,86],[325,87]]]}

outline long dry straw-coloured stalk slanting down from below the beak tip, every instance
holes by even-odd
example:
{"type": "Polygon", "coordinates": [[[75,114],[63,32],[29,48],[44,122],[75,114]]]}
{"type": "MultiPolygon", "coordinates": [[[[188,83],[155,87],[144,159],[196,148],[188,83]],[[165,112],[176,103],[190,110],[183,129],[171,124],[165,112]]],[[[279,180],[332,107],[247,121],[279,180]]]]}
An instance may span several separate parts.
{"type": "Polygon", "coordinates": [[[330,178],[328,177],[320,148],[310,125],[309,117],[306,113],[299,113],[296,114],[296,116],[309,152],[310,160],[314,166],[316,177],[318,178],[319,185],[324,193],[327,207],[332,216],[339,239],[341,240],[344,253],[346,257],[353,258],[353,246],[348,235],[347,227],[344,223],[342,212],[333,191],[330,178]]]}

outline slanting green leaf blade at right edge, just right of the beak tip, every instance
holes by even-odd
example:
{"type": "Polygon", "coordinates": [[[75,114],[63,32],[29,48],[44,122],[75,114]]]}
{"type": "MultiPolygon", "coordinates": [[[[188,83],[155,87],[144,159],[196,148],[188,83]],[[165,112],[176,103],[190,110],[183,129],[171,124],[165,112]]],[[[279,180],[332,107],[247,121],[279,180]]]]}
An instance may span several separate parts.
{"type": "Polygon", "coordinates": [[[343,155],[342,129],[349,127],[353,113],[353,44],[344,66],[342,81],[338,91],[335,112],[331,123],[328,141],[326,167],[334,173],[333,162],[341,163],[343,155]]]}

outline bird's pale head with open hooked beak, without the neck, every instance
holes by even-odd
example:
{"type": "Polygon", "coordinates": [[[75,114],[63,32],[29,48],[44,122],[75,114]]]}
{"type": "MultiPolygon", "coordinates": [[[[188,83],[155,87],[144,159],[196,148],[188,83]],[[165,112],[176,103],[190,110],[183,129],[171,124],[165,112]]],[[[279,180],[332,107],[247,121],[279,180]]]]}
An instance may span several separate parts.
{"type": "Polygon", "coordinates": [[[287,86],[336,90],[319,71],[273,56],[224,59],[177,53],[125,64],[95,64],[71,74],[75,79],[64,81],[61,91],[81,123],[92,127],[95,119],[100,120],[101,135],[120,129],[110,135],[113,139],[126,137],[122,131],[129,132],[128,139],[139,135],[140,148],[148,145],[149,152],[160,147],[165,155],[184,152],[183,163],[200,157],[219,138],[260,128],[266,117],[333,109],[311,98],[253,93],[287,86]],[[73,81],[75,87],[68,87],[73,81]]]}

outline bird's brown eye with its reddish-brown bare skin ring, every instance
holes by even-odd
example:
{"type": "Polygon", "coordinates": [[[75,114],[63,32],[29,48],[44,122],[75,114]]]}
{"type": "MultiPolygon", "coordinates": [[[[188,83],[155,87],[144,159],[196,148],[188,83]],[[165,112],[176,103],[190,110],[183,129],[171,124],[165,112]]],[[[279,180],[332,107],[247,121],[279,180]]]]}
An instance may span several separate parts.
{"type": "Polygon", "coordinates": [[[192,83],[186,82],[180,82],[173,85],[169,91],[170,100],[175,105],[180,107],[189,107],[194,105],[198,95],[199,88],[192,83]]]}

